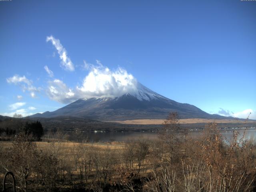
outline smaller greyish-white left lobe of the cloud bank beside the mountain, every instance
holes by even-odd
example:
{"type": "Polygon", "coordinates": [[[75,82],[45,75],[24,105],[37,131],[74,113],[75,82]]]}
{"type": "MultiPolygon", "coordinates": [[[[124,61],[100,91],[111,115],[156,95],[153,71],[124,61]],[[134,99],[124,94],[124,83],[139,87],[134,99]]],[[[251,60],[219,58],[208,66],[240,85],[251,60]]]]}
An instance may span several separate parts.
{"type": "Polygon", "coordinates": [[[78,99],[75,93],[59,79],[49,81],[46,93],[50,99],[60,103],[69,103],[78,99]]]}

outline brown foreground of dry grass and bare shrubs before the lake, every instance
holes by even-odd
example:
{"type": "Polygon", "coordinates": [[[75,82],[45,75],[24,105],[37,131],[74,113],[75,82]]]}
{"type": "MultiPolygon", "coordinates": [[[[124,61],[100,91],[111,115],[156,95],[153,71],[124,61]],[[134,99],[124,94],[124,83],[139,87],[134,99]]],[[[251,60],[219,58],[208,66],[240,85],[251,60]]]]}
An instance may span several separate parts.
{"type": "MultiPolygon", "coordinates": [[[[20,192],[256,190],[254,140],[236,131],[231,140],[222,138],[216,123],[196,139],[179,129],[177,114],[171,113],[156,140],[33,142],[20,132],[12,142],[0,142],[0,176],[13,172],[20,192]]],[[[6,185],[12,187],[10,178],[6,185]]]]}

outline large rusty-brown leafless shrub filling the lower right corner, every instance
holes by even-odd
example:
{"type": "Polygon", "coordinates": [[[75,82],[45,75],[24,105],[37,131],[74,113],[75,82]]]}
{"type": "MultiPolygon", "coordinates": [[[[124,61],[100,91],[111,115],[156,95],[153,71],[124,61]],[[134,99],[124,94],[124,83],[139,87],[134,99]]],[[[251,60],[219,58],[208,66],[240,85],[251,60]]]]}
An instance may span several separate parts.
{"type": "Polygon", "coordinates": [[[238,139],[234,131],[232,140],[224,142],[215,123],[208,124],[205,141],[201,142],[202,159],[206,164],[208,181],[206,190],[250,191],[256,170],[252,166],[254,152],[246,150],[245,135],[238,139]]]}

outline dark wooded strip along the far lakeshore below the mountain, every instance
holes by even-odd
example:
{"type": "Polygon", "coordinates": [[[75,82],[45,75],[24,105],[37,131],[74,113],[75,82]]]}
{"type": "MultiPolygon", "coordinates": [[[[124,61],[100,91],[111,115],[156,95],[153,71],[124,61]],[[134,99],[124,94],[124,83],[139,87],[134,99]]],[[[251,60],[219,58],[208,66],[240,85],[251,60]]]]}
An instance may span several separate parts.
{"type": "MultiPolygon", "coordinates": [[[[11,118],[0,116],[0,136],[3,133],[17,134],[26,123],[40,122],[44,128],[44,131],[57,130],[62,132],[91,132],[91,131],[105,131],[105,132],[156,132],[162,129],[162,124],[120,124],[115,122],[102,122],[98,120],[92,120],[90,118],[78,118],[60,116],[55,118],[11,118]],[[6,132],[7,131],[7,132],[6,132]]],[[[206,123],[187,123],[180,124],[181,130],[189,129],[204,129],[206,123]]],[[[242,127],[256,127],[256,121],[246,122],[233,122],[233,123],[219,123],[219,128],[242,128],[242,127]]]]}

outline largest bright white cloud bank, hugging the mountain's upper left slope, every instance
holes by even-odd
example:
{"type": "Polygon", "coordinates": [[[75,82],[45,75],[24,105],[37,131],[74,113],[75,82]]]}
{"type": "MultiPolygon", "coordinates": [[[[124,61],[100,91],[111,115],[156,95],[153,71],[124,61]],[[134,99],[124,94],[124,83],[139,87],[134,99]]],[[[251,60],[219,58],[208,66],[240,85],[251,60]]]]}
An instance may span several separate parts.
{"type": "Polygon", "coordinates": [[[136,91],[137,80],[122,68],[111,71],[97,60],[98,66],[84,61],[89,74],[84,78],[82,85],[69,88],[61,80],[50,81],[47,94],[52,100],[69,103],[79,98],[117,97],[128,92],[136,91]]]}

